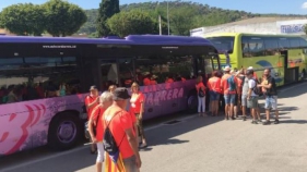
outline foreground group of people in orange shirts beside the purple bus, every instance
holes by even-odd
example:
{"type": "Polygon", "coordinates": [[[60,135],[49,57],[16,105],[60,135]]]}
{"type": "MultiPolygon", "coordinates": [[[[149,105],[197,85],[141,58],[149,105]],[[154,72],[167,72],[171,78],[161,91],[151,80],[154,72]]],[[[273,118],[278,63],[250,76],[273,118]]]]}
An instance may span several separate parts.
{"type": "Polygon", "coordinates": [[[147,146],[142,118],[144,112],[144,95],[139,91],[139,85],[131,85],[131,96],[127,88],[110,85],[108,91],[98,96],[96,86],[91,86],[90,95],[85,98],[88,118],[88,133],[92,142],[91,152],[97,152],[96,169],[102,172],[105,160],[105,171],[117,168],[129,172],[138,172],[141,167],[139,148],[147,146]],[[127,108],[128,100],[130,107],[127,108]],[[109,128],[116,147],[118,160],[114,160],[110,152],[105,152],[107,146],[105,136],[109,128]],[[118,143],[118,144],[116,144],[118,143]]]}

